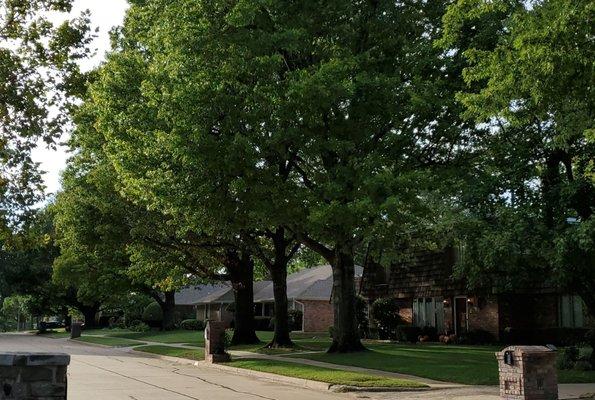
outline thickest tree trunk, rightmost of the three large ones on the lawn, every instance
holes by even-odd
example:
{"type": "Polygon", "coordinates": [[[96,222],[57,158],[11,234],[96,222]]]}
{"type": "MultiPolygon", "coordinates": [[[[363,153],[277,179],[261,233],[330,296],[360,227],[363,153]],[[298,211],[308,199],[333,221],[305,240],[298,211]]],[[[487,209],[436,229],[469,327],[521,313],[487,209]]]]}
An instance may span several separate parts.
{"type": "Polygon", "coordinates": [[[333,343],[329,353],[365,351],[355,313],[355,263],[353,252],[337,247],[333,257],[333,343]]]}

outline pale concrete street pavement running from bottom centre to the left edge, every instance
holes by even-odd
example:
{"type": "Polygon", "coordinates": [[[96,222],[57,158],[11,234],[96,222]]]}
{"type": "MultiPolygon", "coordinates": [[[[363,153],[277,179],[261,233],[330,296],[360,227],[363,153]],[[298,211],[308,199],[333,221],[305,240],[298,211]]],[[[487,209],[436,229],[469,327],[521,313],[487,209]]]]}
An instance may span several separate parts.
{"type": "Polygon", "coordinates": [[[286,386],[216,369],[159,360],[142,353],[88,346],[66,339],[0,335],[0,352],[62,352],[69,400],[349,400],[348,394],[286,386]]]}

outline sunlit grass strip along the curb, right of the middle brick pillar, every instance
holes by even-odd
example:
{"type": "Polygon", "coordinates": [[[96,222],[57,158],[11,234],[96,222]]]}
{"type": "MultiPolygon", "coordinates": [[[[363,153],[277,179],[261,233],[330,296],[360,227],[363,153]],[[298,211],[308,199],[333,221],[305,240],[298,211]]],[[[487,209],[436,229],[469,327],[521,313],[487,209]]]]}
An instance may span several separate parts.
{"type": "Polygon", "coordinates": [[[388,378],[383,376],[362,374],[350,371],[338,371],[311,365],[295,364],[285,361],[246,359],[226,363],[231,367],[244,368],[253,371],[269,372],[293,378],[310,379],[326,382],[331,385],[346,385],[357,387],[391,387],[391,388],[425,388],[423,383],[405,379],[388,378]]]}

